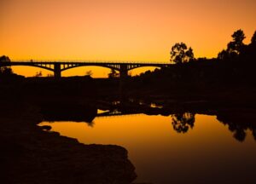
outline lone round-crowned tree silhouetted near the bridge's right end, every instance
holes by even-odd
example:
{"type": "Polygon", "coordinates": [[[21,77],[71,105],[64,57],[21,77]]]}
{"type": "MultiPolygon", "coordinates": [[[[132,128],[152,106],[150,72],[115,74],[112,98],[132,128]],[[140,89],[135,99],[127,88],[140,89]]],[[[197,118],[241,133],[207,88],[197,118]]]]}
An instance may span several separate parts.
{"type": "Polygon", "coordinates": [[[194,59],[193,49],[187,47],[185,43],[175,43],[171,50],[171,61],[179,64],[189,62],[194,59]]]}

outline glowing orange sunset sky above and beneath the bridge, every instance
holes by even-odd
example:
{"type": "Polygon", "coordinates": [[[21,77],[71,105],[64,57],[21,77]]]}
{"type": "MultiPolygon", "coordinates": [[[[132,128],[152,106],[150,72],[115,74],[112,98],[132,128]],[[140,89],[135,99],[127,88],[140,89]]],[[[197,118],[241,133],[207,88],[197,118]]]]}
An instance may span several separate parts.
{"type": "MultiPolygon", "coordinates": [[[[256,29],[255,0],[1,0],[0,7],[0,55],[11,60],[168,61],[177,42],[211,58],[237,29],[245,43],[256,29]]],[[[108,72],[64,75],[90,69],[108,72]]]]}

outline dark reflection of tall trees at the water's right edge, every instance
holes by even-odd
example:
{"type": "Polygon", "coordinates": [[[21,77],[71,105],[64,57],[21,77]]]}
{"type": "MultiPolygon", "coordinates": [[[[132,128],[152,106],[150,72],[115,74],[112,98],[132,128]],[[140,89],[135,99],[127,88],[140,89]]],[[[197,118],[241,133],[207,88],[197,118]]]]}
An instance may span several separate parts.
{"type": "Polygon", "coordinates": [[[254,119],[253,114],[219,113],[217,119],[225,125],[228,124],[237,141],[245,140],[247,129],[252,131],[253,138],[256,141],[256,124],[252,121],[254,119]]]}

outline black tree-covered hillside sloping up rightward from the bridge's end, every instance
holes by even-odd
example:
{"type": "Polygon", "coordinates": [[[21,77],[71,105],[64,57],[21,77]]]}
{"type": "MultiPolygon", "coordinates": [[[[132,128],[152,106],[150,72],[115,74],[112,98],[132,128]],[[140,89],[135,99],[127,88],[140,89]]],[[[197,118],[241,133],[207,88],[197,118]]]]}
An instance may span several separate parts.
{"type": "MultiPolygon", "coordinates": [[[[141,98],[163,95],[175,100],[253,104],[256,101],[253,94],[256,85],[256,36],[254,33],[249,44],[243,43],[245,35],[242,30],[234,32],[231,37],[228,48],[217,58],[182,62],[178,56],[177,64],[128,78],[126,89],[129,89],[129,94],[141,98]]],[[[172,60],[176,53],[173,52],[172,60]]]]}

